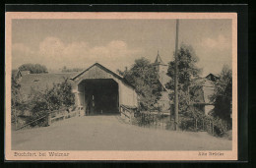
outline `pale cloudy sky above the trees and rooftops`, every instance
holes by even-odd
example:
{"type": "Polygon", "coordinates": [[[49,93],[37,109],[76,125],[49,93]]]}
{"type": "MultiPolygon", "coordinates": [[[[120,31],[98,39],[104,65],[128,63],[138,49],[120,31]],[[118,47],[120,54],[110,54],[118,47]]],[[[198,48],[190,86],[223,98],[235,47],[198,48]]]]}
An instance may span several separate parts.
{"type": "MultiPolygon", "coordinates": [[[[231,66],[231,20],[180,20],[179,45],[191,45],[202,76],[231,66]]],[[[86,69],[100,63],[112,71],[135,59],[173,60],[175,20],[28,20],[12,21],[12,68],[25,63],[48,70],[86,69]]]]}

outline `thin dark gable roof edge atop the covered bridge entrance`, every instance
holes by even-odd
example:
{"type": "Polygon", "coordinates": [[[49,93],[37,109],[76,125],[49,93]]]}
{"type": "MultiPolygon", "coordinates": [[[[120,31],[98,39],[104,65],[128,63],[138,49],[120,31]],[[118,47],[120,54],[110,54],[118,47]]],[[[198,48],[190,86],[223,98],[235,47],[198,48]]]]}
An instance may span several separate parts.
{"type": "Polygon", "coordinates": [[[102,65],[99,64],[99,63],[95,63],[94,65],[92,65],[92,66],[89,67],[88,69],[86,69],[86,70],[84,70],[84,71],[82,71],[82,72],[76,74],[75,76],[71,77],[70,80],[72,80],[72,81],[76,80],[78,77],[82,76],[84,73],[86,73],[87,71],[89,71],[90,69],[92,69],[92,68],[95,67],[95,66],[98,67],[98,68],[100,68],[101,70],[103,70],[103,71],[105,71],[105,72],[111,74],[113,77],[115,77],[115,78],[117,78],[118,80],[122,81],[124,84],[127,84],[127,85],[131,86],[132,88],[135,88],[134,85],[129,84],[122,76],[120,76],[120,75],[118,75],[118,74],[112,72],[111,70],[109,70],[108,68],[105,68],[104,66],[102,66],[102,65]]]}

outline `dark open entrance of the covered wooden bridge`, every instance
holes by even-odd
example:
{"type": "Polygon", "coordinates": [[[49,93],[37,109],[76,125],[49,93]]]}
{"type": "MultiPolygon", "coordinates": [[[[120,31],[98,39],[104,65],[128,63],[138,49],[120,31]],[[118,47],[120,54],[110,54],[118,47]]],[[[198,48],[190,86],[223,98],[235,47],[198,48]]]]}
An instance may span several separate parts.
{"type": "Polygon", "coordinates": [[[118,84],[111,79],[85,80],[87,115],[119,112],[118,84]]]}

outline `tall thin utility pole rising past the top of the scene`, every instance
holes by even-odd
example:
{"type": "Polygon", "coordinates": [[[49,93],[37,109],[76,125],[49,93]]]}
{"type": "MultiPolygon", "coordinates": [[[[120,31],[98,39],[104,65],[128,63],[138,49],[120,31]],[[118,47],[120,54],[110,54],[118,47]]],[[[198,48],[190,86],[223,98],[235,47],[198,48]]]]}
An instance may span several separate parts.
{"type": "Polygon", "coordinates": [[[175,74],[174,74],[174,105],[175,121],[174,130],[178,130],[178,26],[179,20],[176,20],[176,41],[175,41],[175,74]]]}

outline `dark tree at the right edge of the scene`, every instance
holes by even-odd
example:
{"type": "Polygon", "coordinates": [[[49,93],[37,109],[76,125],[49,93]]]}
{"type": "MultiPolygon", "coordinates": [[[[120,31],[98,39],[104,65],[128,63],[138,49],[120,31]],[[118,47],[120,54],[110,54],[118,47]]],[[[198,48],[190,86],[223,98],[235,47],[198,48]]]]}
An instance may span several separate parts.
{"type": "Polygon", "coordinates": [[[230,114],[232,106],[232,71],[224,65],[220,75],[220,80],[215,84],[215,92],[211,96],[215,104],[213,116],[219,117],[230,123],[230,114]]]}

